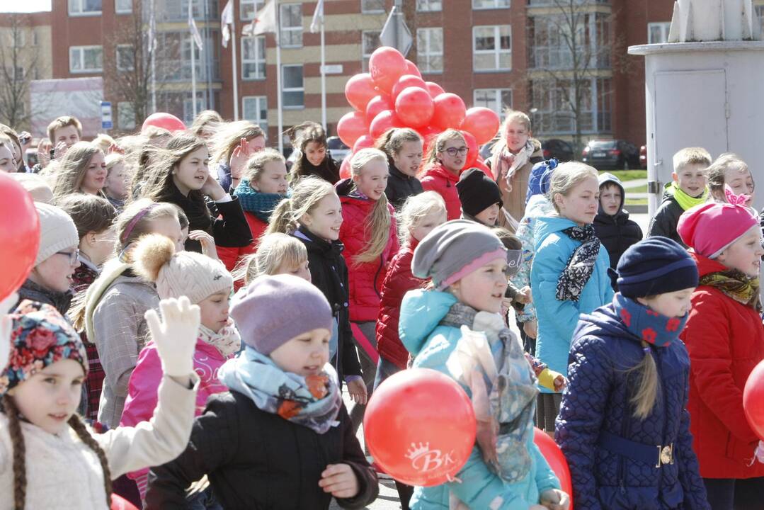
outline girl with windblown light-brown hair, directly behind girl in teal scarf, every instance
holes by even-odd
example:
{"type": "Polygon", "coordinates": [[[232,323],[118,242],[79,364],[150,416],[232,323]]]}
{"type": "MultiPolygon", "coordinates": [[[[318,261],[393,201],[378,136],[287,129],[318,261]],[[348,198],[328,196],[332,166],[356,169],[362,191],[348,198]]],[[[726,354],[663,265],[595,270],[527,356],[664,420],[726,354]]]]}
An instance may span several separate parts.
{"type": "Polygon", "coordinates": [[[218,182],[228,193],[236,189],[241,179],[237,171],[241,170],[242,165],[232,164],[231,159],[244,156],[244,161],[247,161],[251,154],[262,151],[265,147],[265,133],[252,122],[228,122],[209,138],[209,144],[212,147],[212,161],[217,167],[218,182]]]}

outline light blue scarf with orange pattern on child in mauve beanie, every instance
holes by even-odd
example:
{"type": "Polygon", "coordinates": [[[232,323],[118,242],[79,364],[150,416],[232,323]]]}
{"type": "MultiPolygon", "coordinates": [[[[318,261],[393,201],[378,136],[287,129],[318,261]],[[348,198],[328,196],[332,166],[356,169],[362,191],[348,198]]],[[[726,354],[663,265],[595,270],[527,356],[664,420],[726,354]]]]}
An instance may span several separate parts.
{"type": "Polygon", "coordinates": [[[223,363],[218,372],[228,389],[246,395],[258,409],[324,434],[339,424],[342,395],[330,363],[319,375],[284,372],[268,356],[252,349],[223,363]]]}

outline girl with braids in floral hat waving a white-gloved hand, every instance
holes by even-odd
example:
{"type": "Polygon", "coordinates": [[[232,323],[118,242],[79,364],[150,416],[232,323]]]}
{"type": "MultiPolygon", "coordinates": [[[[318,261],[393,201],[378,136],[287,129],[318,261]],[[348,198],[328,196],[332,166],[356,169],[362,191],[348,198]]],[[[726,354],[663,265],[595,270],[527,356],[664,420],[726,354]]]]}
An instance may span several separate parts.
{"type": "Polygon", "coordinates": [[[199,309],[185,298],[161,308],[161,323],[147,313],[163,368],[157,412],[104,434],[75,413],[88,365],[72,326],[31,301],[11,315],[11,356],[0,376],[0,508],[110,508],[112,479],[183,450],[199,381],[191,362],[199,309]]]}

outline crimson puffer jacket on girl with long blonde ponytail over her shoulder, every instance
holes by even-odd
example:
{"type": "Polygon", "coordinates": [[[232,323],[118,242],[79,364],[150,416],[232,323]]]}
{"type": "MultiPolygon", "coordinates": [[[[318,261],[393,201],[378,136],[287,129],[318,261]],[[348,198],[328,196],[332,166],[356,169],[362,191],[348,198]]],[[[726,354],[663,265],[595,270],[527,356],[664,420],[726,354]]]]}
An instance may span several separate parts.
{"type": "Polygon", "coordinates": [[[339,240],[345,245],[342,256],[345,257],[348,265],[350,320],[352,322],[377,320],[377,313],[380,310],[380,292],[387,274],[387,265],[393,254],[398,251],[395,210],[393,206],[387,204],[387,210],[390,211],[390,238],[380,258],[358,264],[354,258],[366,247],[369,239],[366,229],[371,210],[376,202],[348,195],[353,189],[351,179],[340,180],[336,187],[342,202],[342,227],[339,230],[339,240]]]}

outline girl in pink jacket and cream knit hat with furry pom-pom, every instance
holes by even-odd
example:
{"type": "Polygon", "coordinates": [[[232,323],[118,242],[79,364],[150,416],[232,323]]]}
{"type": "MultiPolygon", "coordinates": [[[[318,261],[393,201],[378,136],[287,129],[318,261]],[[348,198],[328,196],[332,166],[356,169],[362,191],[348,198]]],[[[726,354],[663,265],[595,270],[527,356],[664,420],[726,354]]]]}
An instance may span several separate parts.
{"type": "MultiPolygon", "coordinates": [[[[219,261],[194,252],[175,252],[170,239],[157,234],[142,237],[133,251],[134,271],[145,281],[157,285],[160,299],[188,297],[199,306],[201,323],[193,352],[193,367],[199,375],[196,393],[196,416],[202,414],[207,398],[227,391],[218,381],[218,370],[238,352],[241,339],[228,317],[228,297],[233,278],[219,261]]],[[[148,343],[130,376],[128,398],[119,422],[133,427],[147,421],[157,407],[157,385],[162,378],[162,364],[154,343],[148,343]]],[[[141,499],[146,495],[148,469],[129,473],[138,484],[141,499]]],[[[197,499],[206,500],[207,495],[197,499]]]]}

